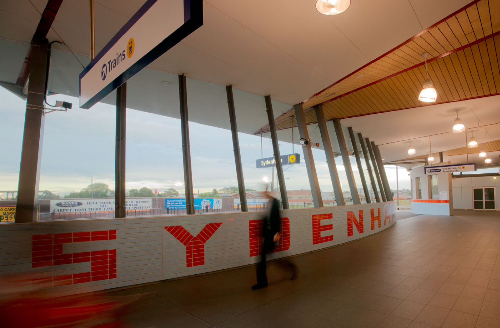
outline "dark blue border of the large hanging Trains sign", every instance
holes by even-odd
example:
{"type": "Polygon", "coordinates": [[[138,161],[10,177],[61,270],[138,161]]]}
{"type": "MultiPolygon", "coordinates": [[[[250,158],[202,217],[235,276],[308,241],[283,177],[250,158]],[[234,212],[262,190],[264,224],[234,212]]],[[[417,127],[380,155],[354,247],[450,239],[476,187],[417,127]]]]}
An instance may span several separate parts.
{"type": "MultiPolygon", "coordinates": [[[[81,96],[81,78],[104,56],[104,54],[125,34],[130,27],[139,20],[140,17],[156,2],[157,0],[147,0],[137,12],[130,18],[120,30],[107,42],[107,44],[99,51],[99,53],[90,61],[90,63],[78,75],[78,97],[81,96]]],[[[199,26],[203,25],[203,0],[184,0],[184,23],[173,31],[170,35],[163,39],[158,45],[152,48],[142,58],[137,60],[133,65],[128,67],[114,80],[104,86],[99,92],[87,100],[80,108],[88,109],[97,103],[99,100],[108,95],[112,90],[126,82],[133,75],[138,73],[142,68],[153,62],[168,49],[180,42],[184,37],[195,31],[199,26]]]]}

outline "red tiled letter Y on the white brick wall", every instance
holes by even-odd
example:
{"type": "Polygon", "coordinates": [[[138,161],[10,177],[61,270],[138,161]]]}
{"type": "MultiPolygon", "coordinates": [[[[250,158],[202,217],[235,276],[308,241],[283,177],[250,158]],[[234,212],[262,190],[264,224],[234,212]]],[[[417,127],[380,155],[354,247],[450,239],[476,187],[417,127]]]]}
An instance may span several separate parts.
{"type": "Polygon", "coordinates": [[[221,224],[222,222],[208,223],[196,236],[190,234],[181,225],[165,226],[164,228],[186,246],[186,266],[190,267],[205,264],[205,242],[221,224]]]}

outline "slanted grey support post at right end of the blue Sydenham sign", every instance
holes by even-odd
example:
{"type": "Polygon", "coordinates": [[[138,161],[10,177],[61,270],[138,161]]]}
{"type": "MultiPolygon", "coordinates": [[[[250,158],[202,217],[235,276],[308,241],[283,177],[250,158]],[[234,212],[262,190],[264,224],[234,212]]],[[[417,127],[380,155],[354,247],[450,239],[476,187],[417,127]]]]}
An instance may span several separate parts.
{"type": "MultiPolygon", "coordinates": [[[[300,138],[309,140],[309,132],[305,124],[304,109],[301,103],[293,105],[295,110],[295,119],[297,120],[298,134],[300,138]]],[[[293,128],[293,127],[292,127],[293,128]]],[[[314,207],[323,207],[323,198],[321,197],[321,190],[317,182],[316,166],[314,165],[314,158],[312,157],[311,144],[308,142],[304,150],[305,168],[307,169],[307,176],[309,177],[309,185],[311,187],[312,202],[314,207]]]]}

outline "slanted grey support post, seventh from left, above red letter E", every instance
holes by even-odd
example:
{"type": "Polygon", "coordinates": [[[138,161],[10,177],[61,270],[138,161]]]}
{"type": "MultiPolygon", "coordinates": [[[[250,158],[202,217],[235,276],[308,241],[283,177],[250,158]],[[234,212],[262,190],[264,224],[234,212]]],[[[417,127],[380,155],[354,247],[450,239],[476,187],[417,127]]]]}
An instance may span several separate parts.
{"type": "Polygon", "coordinates": [[[340,186],[340,180],[338,179],[337,166],[335,165],[335,156],[333,156],[330,136],[328,135],[328,128],[324,120],[323,106],[321,104],[317,104],[314,106],[314,110],[316,111],[317,125],[319,127],[319,133],[321,133],[321,141],[323,142],[324,154],[326,155],[326,163],[328,164],[331,184],[333,185],[335,202],[337,205],[345,205],[342,195],[342,187],[340,186]]]}

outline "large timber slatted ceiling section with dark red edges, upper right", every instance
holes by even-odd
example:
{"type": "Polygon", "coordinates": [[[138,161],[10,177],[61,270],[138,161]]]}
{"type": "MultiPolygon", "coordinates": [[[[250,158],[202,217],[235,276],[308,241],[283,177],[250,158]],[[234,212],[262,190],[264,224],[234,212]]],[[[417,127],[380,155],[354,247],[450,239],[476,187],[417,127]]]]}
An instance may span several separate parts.
{"type": "MultiPolygon", "coordinates": [[[[437,102],[500,93],[500,0],[472,1],[373,62],[303,102],[306,122],[312,106],[322,103],[325,119],[428,105],[417,97],[426,79],[422,53],[437,102]]],[[[313,111],[313,110],[312,110],[313,111]]],[[[293,109],[276,118],[289,128],[293,109]]],[[[260,130],[267,131],[268,126],[260,130]]]]}

